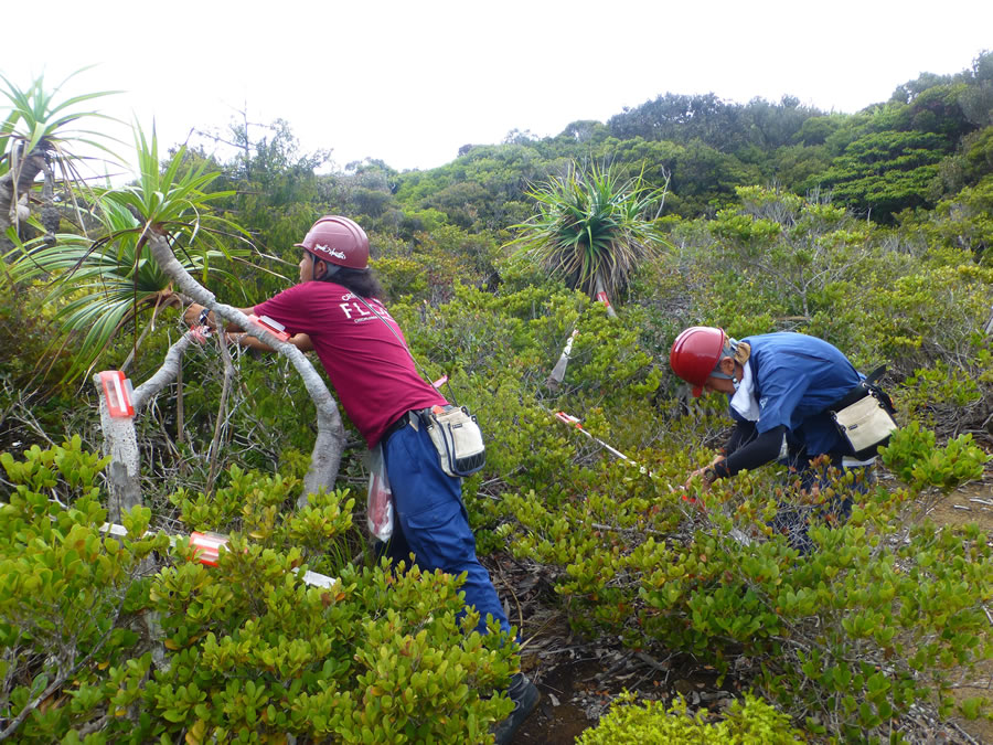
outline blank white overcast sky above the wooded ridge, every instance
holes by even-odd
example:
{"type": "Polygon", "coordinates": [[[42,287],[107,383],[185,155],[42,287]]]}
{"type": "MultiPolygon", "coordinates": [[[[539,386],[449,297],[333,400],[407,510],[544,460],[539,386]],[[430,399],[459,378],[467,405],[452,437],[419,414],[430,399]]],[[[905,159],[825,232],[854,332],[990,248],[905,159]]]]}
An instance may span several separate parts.
{"type": "Polygon", "coordinates": [[[0,73],[67,92],[161,149],[191,128],[288,120],[339,167],[433,168],[513,128],[556,135],[665,92],[783,94],[854,111],[993,49],[989,0],[50,0],[19,6],[0,73]],[[34,10],[36,8],[36,12],[34,10]]]}

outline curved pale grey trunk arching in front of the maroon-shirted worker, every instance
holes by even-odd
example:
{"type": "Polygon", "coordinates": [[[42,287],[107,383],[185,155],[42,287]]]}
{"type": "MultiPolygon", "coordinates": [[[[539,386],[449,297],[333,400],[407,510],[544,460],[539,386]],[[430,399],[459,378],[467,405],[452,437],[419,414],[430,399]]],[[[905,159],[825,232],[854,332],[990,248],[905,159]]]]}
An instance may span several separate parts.
{"type": "Polygon", "coordinates": [[[341,453],[344,448],[344,426],[341,423],[338,404],[317,370],[299,349],[289,342],[279,341],[265,329],[250,323],[248,317],[237,308],[217,302],[214,295],[200,285],[175,259],[164,236],[152,233],[149,235],[147,245],[156,262],[179,286],[180,291],[212,310],[215,318],[223,318],[225,321],[241,327],[292,362],[297,372],[300,373],[300,377],[303,379],[303,385],[313,400],[318,413],[318,434],[310,458],[310,469],[303,477],[303,493],[300,494],[297,504],[298,507],[306,505],[308,496],[317,493],[321,489],[330,491],[334,487],[338,467],[341,464],[341,453]]]}

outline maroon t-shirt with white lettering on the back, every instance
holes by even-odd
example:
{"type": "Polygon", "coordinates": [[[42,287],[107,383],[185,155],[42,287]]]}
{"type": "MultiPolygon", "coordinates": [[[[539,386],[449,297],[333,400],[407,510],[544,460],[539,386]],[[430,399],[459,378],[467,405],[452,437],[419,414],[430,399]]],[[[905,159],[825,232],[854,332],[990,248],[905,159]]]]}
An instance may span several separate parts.
{"type": "Polygon", "coordinates": [[[310,337],[341,405],[373,447],[404,412],[446,401],[417,373],[404,334],[383,304],[366,302],[378,317],[345,287],[308,281],[258,304],[255,315],[310,337]]]}

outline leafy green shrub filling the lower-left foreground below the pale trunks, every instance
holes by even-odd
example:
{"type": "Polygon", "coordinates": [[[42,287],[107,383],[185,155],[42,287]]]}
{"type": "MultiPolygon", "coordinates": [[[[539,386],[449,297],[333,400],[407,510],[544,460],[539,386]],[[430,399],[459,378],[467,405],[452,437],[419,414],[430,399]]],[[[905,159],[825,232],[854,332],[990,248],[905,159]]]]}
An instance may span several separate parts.
{"type": "Polygon", "coordinates": [[[107,461],[78,438],[0,462],[0,717],[18,742],[483,743],[512,707],[493,693],[516,645],[461,615],[462,577],[341,553],[346,491],[285,514],[292,479],[235,469],[213,501],[177,494],[191,526],[239,528],[209,567],[146,535],[147,508],[104,533],[107,461]],[[308,585],[311,567],[334,576],[308,585]]]}

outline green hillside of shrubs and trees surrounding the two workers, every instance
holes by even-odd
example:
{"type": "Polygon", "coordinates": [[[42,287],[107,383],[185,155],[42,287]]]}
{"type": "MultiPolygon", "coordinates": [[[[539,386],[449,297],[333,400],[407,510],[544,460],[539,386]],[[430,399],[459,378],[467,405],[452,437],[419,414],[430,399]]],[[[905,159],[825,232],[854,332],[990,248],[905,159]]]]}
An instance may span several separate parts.
{"type": "Polygon", "coordinates": [[[73,160],[104,94],[2,81],[0,739],[487,742],[509,675],[542,688],[580,647],[632,671],[587,743],[989,736],[993,503],[931,510],[993,448],[993,53],[853,114],[665,93],[425,171],[331,167],[282,120],[234,121],[229,159],[139,123],[140,172],[106,188],[73,160]],[[459,578],[376,561],[365,444],[316,359],[182,321],[296,283],[322,214],[365,227],[414,356],[481,422],[465,501],[520,656],[460,620],[459,578]],[[775,518],[843,483],[684,487],[730,426],[670,370],[695,324],[886,365],[900,429],[812,552],[775,518]],[[134,419],[94,381],[115,370],[134,419]],[[231,536],[216,565],[193,531],[231,536]],[[727,705],[686,715],[694,675],[727,705]]]}

